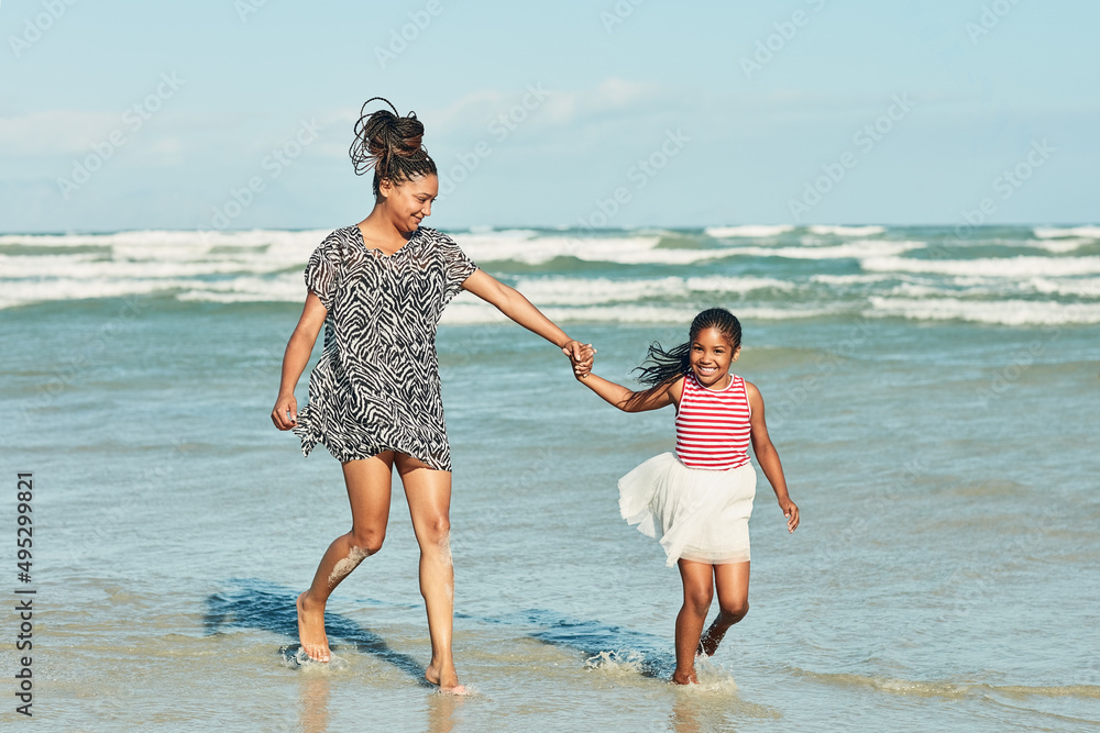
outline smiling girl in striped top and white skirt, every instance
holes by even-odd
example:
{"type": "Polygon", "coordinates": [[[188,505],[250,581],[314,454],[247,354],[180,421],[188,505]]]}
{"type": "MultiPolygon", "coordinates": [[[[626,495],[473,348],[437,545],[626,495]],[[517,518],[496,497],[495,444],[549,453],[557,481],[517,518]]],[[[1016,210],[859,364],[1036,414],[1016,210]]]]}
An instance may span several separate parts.
{"type": "Polygon", "coordinates": [[[619,509],[640,532],[660,537],[669,566],[680,566],[684,603],[676,617],[672,675],[680,685],[698,681],[695,655],[714,654],[726,630],[749,610],[748,521],[756,496],[750,441],[788,531],[799,526],[760,391],[729,371],[740,353],[740,323],[729,311],[712,308],[692,321],[688,343],[669,352],[649,347],[638,368],[649,389],[631,391],[591,374],[590,358],[573,366],[579,380],[619,410],[676,407],[675,454],[662,453],[619,479],[619,509]],[[703,635],[714,588],[718,615],[703,635]]]}

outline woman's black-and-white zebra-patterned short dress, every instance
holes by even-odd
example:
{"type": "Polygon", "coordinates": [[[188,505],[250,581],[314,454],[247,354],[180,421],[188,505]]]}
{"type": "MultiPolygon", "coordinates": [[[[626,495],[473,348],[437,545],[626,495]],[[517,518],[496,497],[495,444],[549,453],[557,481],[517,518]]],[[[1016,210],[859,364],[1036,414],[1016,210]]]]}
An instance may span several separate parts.
{"type": "Polygon", "coordinates": [[[476,269],[426,226],[392,256],[369,249],[358,225],[324,237],[306,266],[306,287],[328,315],[293,429],[304,455],[321,443],[341,463],[395,451],[451,470],[436,326],[476,269]]]}

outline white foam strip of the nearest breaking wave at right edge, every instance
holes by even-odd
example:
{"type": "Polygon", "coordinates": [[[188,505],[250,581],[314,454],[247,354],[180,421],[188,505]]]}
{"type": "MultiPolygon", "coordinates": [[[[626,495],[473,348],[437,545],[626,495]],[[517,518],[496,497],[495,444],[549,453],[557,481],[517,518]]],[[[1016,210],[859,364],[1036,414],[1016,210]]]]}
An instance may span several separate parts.
{"type": "Polygon", "coordinates": [[[883,298],[872,296],[867,316],[902,316],[925,321],[971,321],[1001,325],[1100,323],[1100,303],[963,298],[883,298]]]}

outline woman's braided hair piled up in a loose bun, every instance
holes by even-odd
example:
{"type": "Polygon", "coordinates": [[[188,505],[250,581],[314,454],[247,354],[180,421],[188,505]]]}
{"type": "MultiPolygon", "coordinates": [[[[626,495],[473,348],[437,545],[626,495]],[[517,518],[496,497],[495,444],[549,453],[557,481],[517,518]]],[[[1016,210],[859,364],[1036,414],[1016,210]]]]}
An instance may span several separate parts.
{"type": "Polygon", "coordinates": [[[435,175],[436,162],[420,145],[422,137],[424,123],[416,119],[416,112],[403,118],[388,99],[372,97],[363,102],[359,122],[355,123],[355,140],[348,151],[355,175],[362,176],[374,168],[375,198],[383,179],[400,184],[435,175]],[[393,112],[378,110],[367,114],[366,105],[376,99],[389,104],[393,112]]]}

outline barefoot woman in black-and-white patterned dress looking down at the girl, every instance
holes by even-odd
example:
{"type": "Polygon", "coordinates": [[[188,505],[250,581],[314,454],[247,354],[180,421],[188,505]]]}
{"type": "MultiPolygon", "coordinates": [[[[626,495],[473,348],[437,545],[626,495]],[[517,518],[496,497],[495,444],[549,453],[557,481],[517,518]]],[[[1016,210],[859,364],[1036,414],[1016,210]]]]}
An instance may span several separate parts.
{"type": "MultiPolygon", "coordinates": [[[[375,99],[389,104],[375,97],[363,109],[375,99]]],[[[374,208],[359,224],[329,234],[309,258],[306,304],[283,357],[272,421],[294,430],[305,455],[322,443],[340,460],[351,501],[351,531],[332,541],[309,589],[298,597],[301,648],[311,659],[329,660],[324,604],[340,581],[382,547],[396,466],[420,546],[420,592],[431,638],[425,676],[443,691],[461,693],[451,655],[451,455],[436,325],[443,307],[465,289],[574,363],[591,348],[477,269],[449,236],[420,226],[439,190],[422,135],[416,115],[403,118],[396,109],[363,113],[355,124],[350,153],[356,174],[374,169],[374,208]],[[321,325],[324,349],[309,378],[309,403],[299,412],[294,388],[321,325]]]]}

